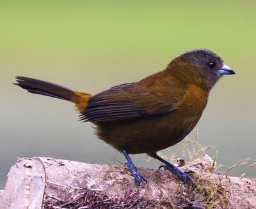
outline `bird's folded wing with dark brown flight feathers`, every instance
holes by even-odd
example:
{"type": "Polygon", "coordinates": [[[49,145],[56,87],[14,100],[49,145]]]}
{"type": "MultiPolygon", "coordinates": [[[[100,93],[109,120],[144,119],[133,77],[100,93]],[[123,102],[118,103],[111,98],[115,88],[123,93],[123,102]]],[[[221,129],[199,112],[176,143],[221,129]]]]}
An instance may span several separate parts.
{"type": "Polygon", "coordinates": [[[137,83],[125,83],[90,97],[80,120],[101,122],[134,119],[170,112],[173,108],[172,103],[164,103],[159,95],[137,83]]]}

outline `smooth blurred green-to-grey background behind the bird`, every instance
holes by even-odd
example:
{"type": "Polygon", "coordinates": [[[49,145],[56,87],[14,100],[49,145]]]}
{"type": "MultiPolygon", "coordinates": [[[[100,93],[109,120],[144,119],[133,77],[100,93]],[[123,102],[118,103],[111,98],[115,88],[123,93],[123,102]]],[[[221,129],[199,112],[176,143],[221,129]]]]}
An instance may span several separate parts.
{"type": "MultiPolygon", "coordinates": [[[[12,85],[15,75],[95,94],[164,69],[193,48],[211,49],[236,71],[212,90],[196,126],[200,142],[216,147],[221,170],[256,159],[255,6],[255,1],[1,1],[0,189],[16,157],[124,162],[93,135],[92,124],[77,122],[71,103],[28,94],[12,85]]],[[[145,154],[131,157],[139,167],[159,166],[145,154]]],[[[243,173],[256,177],[247,166],[230,175],[243,173]]]]}

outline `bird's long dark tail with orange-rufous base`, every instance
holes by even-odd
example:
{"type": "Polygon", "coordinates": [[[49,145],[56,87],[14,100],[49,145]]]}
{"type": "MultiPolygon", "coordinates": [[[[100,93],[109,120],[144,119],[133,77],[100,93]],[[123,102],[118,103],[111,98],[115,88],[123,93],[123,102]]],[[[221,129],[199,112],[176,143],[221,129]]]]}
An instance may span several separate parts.
{"type": "Polygon", "coordinates": [[[88,106],[88,101],[92,94],[87,94],[84,92],[74,91],[63,87],[56,83],[45,82],[44,80],[38,80],[35,78],[28,78],[23,76],[16,76],[17,83],[23,89],[28,90],[28,92],[33,94],[41,94],[44,96],[51,96],[58,99],[64,99],[71,101],[77,107],[77,110],[81,113],[88,106]]]}

